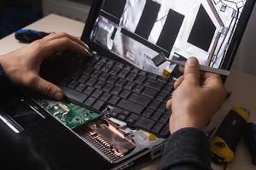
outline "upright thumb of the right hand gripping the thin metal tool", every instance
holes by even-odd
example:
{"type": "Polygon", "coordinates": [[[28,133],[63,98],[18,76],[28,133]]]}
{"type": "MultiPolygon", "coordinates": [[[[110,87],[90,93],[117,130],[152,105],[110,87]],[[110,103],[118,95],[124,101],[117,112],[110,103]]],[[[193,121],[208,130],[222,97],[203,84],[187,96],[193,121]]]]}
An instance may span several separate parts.
{"type": "Polygon", "coordinates": [[[184,80],[199,83],[200,82],[200,65],[195,57],[187,60],[184,71],[184,80]]]}

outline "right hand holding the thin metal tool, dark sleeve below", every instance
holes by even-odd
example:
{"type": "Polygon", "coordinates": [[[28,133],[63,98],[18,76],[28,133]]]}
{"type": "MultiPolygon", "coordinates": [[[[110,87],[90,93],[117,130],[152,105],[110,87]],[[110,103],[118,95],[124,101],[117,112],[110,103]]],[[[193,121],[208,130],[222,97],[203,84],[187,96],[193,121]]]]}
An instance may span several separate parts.
{"type": "Polygon", "coordinates": [[[170,131],[175,133],[184,127],[203,130],[218,111],[226,97],[221,78],[212,73],[201,75],[198,60],[190,58],[186,62],[183,77],[174,84],[172,99],[167,109],[172,110],[170,131]]]}

